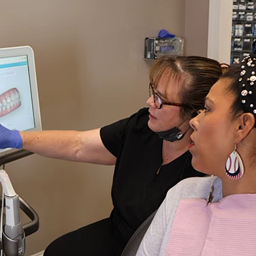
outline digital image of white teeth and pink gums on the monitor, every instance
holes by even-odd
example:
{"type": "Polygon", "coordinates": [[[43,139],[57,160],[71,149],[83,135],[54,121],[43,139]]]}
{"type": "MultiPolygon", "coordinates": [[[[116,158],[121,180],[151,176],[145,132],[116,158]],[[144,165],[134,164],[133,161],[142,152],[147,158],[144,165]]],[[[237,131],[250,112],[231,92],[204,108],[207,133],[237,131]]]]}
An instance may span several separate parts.
{"type": "Polygon", "coordinates": [[[21,105],[18,89],[12,88],[0,95],[0,117],[13,112],[21,105]]]}

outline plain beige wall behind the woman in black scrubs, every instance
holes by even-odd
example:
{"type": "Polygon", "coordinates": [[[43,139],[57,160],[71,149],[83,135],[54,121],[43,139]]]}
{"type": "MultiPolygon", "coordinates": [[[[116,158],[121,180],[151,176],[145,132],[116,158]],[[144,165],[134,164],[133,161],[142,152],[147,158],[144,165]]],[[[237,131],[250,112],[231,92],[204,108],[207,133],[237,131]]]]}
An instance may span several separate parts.
{"type": "MultiPolygon", "coordinates": [[[[142,58],[144,37],[163,28],[185,37],[185,3],[3,0],[0,47],[32,46],[43,129],[101,127],[146,106],[151,62],[142,58]]],[[[26,255],[110,214],[113,167],[32,155],[5,169],[40,218],[26,255]]]]}

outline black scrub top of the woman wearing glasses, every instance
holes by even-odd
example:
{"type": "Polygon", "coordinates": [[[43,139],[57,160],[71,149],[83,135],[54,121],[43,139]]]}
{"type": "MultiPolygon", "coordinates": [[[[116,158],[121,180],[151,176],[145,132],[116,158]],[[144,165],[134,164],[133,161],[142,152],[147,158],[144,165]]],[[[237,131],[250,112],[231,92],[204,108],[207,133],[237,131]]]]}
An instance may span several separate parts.
{"type": "Polygon", "coordinates": [[[148,114],[148,108],[142,108],[100,130],[104,146],[117,158],[110,219],[124,244],[159,208],[170,188],[184,178],[205,175],[193,169],[189,151],[161,166],[163,140],[148,128],[148,114]]]}

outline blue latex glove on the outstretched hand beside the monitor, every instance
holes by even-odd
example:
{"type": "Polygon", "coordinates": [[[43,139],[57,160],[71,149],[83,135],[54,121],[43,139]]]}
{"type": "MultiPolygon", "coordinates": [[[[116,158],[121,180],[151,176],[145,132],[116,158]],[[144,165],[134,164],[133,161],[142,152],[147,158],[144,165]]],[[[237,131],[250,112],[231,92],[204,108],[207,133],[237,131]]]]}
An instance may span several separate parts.
{"type": "Polygon", "coordinates": [[[0,125],[0,148],[22,148],[22,138],[17,130],[11,131],[0,125]]]}

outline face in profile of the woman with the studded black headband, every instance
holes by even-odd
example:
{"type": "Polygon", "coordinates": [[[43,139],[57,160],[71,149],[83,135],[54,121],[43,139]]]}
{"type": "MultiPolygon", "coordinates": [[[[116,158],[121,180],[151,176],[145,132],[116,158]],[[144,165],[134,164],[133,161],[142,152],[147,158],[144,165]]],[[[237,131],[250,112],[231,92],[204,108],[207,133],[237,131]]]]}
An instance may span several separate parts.
{"type": "Polygon", "coordinates": [[[221,79],[206,96],[205,108],[190,122],[193,128],[192,165],[206,174],[225,176],[225,162],[234,150],[236,121],[231,120],[230,107],[234,95],[227,93],[229,80],[221,79]]]}

